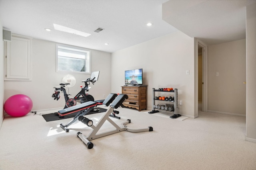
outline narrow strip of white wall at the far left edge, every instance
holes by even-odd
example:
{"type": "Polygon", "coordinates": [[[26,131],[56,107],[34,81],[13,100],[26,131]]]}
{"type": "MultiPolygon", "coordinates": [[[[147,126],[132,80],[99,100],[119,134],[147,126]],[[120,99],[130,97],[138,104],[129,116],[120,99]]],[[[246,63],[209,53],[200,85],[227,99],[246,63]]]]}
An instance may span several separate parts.
{"type": "Polygon", "coordinates": [[[0,21],[0,127],[4,119],[4,41],[2,34],[3,26],[0,21]]]}

